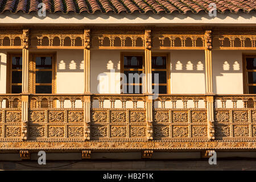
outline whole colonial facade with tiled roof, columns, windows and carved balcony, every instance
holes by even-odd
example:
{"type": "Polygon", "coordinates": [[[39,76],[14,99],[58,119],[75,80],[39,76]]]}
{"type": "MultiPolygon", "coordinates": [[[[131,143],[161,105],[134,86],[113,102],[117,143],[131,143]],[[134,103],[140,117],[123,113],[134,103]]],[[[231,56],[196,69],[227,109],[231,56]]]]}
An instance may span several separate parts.
{"type": "Polygon", "coordinates": [[[0,3],[2,154],[256,150],[254,1],[39,3],[0,3]]]}

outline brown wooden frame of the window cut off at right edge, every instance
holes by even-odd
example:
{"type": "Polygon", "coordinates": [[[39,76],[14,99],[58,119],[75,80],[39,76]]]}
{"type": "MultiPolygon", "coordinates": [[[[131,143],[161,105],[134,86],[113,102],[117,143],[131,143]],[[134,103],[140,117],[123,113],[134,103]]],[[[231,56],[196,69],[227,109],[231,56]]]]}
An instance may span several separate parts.
{"type": "Polygon", "coordinates": [[[246,57],[256,57],[256,54],[249,53],[243,54],[242,64],[243,64],[243,93],[249,94],[248,86],[256,86],[256,84],[248,84],[247,72],[256,72],[256,69],[247,70],[246,68],[246,57]]]}

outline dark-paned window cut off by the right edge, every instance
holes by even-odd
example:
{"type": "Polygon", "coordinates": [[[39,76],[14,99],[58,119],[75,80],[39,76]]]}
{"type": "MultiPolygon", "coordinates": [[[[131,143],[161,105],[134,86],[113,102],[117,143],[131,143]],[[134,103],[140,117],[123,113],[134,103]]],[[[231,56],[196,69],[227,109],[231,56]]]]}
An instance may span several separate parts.
{"type": "Polygon", "coordinates": [[[243,56],[244,92],[256,94],[256,55],[243,56]]]}

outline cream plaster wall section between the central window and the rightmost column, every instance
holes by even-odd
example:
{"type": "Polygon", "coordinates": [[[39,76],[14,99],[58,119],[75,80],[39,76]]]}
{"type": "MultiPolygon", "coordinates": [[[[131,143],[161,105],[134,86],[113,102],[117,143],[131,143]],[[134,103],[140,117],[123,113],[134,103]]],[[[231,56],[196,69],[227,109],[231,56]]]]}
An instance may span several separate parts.
{"type": "Polygon", "coordinates": [[[205,93],[204,51],[170,51],[171,93],[205,93]]]}

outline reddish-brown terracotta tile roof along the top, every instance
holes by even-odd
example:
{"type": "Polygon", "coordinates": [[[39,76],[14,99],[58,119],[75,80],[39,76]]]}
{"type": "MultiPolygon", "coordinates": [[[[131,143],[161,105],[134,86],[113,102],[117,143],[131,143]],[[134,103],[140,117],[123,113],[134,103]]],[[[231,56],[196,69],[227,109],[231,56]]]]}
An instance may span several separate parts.
{"type": "Polygon", "coordinates": [[[250,13],[256,10],[256,0],[0,0],[0,13],[32,13],[38,11],[40,2],[49,13],[208,13],[209,4],[216,3],[217,11],[225,13],[250,13]]]}

